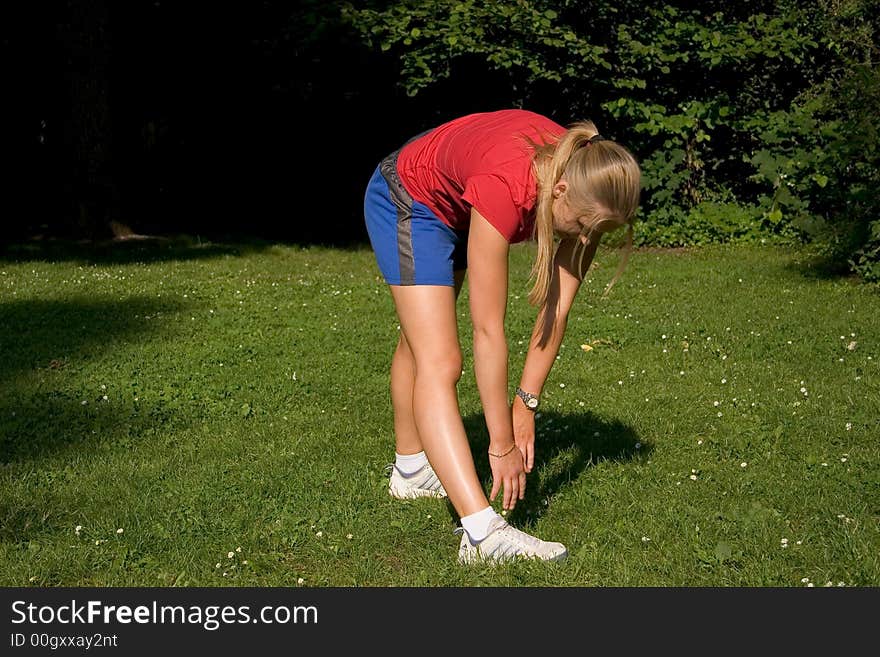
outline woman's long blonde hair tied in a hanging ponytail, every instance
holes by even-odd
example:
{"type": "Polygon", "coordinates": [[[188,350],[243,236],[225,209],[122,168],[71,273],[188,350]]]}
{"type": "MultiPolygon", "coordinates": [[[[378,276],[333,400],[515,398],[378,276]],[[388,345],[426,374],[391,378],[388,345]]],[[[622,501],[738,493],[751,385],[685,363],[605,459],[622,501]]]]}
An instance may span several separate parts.
{"type": "MultiPolygon", "coordinates": [[[[534,237],[538,253],[532,265],[530,280],[534,285],[529,292],[529,303],[543,306],[547,301],[550,281],[553,277],[555,240],[553,229],[553,187],[565,177],[568,182],[566,202],[578,215],[587,217],[581,236],[588,242],[601,239],[600,229],[612,224],[612,228],[627,226],[627,241],[623,259],[611,282],[605,288],[607,295],[623,273],[632,252],[633,220],[639,207],[641,170],[639,164],[625,147],[609,139],[590,141],[599,131],[592,121],[580,121],[556,142],[532,144],[535,148],[534,168],[538,181],[535,207],[534,237]]],[[[586,245],[578,239],[572,253],[571,267],[577,254],[577,272],[583,279],[586,245]]],[[[603,295],[603,296],[604,296],[603,295]]]]}

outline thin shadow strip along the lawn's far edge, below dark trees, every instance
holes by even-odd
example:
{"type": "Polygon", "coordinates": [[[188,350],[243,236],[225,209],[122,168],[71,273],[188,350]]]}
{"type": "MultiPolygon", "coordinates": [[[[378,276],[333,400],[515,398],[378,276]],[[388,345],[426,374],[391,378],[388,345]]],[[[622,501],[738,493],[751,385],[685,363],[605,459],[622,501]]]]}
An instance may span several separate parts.
{"type": "Polygon", "coordinates": [[[327,246],[357,251],[369,248],[362,242],[322,244],[291,240],[261,240],[231,236],[228,239],[204,239],[199,236],[149,237],[146,239],[106,240],[103,242],[70,240],[33,240],[0,244],[0,263],[81,262],[90,265],[129,265],[158,262],[185,262],[222,256],[245,256],[262,253],[274,246],[327,246]]]}

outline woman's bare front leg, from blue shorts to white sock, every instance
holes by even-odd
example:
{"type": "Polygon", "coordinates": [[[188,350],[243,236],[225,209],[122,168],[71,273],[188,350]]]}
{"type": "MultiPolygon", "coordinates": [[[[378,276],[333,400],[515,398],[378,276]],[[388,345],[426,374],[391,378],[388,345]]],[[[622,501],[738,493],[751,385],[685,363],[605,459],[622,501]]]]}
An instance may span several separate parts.
{"type": "MultiPolygon", "coordinates": [[[[455,292],[446,286],[392,285],[391,295],[407,347],[405,352],[398,348],[398,353],[401,359],[407,354],[412,357],[411,409],[415,431],[409,427],[409,434],[405,435],[409,439],[418,437],[456,512],[460,516],[471,515],[489,506],[489,501],[477,477],[458,408],[456,384],[461,378],[461,348],[455,292]]],[[[405,373],[402,367],[394,371],[405,373]]]]}

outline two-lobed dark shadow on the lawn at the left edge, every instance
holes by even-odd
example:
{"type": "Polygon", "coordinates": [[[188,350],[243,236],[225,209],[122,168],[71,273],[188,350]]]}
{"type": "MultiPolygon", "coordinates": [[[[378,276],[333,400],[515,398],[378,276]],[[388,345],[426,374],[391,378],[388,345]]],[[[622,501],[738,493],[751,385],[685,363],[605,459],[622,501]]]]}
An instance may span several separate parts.
{"type": "Polygon", "coordinates": [[[125,345],[133,353],[126,367],[136,374],[138,341],[161,332],[164,315],[182,308],[145,297],[0,304],[0,463],[63,451],[92,436],[129,440],[162,424],[161,407],[104,402],[99,382],[84,392],[79,370],[125,345]]]}

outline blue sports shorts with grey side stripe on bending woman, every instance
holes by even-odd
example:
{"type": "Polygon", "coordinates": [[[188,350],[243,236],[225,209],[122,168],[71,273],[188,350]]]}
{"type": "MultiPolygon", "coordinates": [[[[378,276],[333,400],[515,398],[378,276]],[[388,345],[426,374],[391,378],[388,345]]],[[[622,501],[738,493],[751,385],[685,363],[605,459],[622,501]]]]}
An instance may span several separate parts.
{"type": "Polygon", "coordinates": [[[389,285],[450,285],[467,269],[467,231],[453,230],[413,200],[397,176],[396,151],[376,167],[364,219],[379,270],[389,285]]]}

